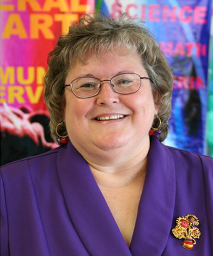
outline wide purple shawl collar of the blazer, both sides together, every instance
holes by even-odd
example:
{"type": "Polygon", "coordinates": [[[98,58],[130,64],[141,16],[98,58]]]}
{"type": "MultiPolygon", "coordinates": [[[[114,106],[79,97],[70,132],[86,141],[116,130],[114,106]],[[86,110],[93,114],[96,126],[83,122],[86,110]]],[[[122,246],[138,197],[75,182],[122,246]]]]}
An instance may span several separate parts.
{"type": "Polygon", "coordinates": [[[176,179],[173,158],[154,138],[130,248],[81,154],[61,148],[58,176],[72,223],[91,255],[161,255],[172,227],[176,179]],[[159,236],[159,233],[161,234],[159,236]]]}

